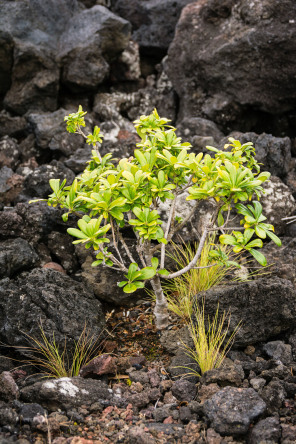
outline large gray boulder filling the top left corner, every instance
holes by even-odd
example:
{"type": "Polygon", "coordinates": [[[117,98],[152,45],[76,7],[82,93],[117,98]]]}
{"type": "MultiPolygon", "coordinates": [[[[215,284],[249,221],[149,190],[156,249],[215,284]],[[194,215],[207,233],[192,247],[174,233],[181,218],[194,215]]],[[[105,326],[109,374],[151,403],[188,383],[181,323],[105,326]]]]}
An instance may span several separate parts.
{"type": "Polygon", "coordinates": [[[77,0],[4,2],[0,93],[6,93],[5,108],[16,114],[55,111],[61,79],[75,90],[97,88],[109,63],[128,45],[130,28],[104,6],[85,10],[77,0]]]}

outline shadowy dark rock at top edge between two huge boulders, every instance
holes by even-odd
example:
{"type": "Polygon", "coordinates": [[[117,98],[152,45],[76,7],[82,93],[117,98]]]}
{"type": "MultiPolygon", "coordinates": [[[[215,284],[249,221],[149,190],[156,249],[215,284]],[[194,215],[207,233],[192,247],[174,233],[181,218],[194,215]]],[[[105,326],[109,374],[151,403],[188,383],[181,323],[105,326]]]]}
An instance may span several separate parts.
{"type": "Polygon", "coordinates": [[[117,0],[114,12],[133,25],[133,39],[142,51],[163,55],[173,40],[182,8],[190,0],[117,0]]]}

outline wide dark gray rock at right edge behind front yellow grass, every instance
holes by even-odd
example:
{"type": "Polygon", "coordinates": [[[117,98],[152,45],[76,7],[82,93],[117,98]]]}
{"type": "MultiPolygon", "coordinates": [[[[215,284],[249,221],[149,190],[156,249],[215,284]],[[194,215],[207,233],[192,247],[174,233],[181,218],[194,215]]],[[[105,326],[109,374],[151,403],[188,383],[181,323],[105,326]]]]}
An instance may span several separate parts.
{"type": "Polygon", "coordinates": [[[229,334],[241,322],[241,328],[235,336],[235,346],[266,341],[294,325],[295,289],[285,279],[261,278],[215,287],[197,295],[197,302],[203,300],[206,319],[208,316],[214,318],[218,303],[220,313],[227,312],[231,307],[229,334]]]}

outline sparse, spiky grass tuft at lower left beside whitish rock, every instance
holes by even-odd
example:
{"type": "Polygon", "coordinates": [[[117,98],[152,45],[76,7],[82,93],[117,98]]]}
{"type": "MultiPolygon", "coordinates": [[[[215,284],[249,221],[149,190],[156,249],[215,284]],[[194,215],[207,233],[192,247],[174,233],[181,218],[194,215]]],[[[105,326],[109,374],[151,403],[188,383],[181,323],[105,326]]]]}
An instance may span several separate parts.
{"type": "Polygon", "coordinates": [[[39,328],[41,339],[24,333],[31,345],[21,347],[21,349],[26,354],[32,356],[25,361],[25,364],[36,366],[46,377],[63,378],[78,376],[81,367],[89,364],[94,358],[101,355],[99,337],[91,335],[86,326],[78,341],[75,342],[74,351],[71,354],[67,350],[66,339],[63,349],[60,350],[54,334],[52,338],[48,338],[41,325],[39,328]]]}

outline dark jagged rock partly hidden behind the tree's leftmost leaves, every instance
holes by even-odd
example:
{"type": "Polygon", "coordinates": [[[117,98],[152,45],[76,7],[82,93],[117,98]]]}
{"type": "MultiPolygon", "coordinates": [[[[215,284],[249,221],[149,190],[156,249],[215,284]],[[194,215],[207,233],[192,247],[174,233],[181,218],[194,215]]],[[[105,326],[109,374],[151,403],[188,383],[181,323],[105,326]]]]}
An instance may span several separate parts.
{"type": "Polygon", "coordinates": [[[60,179],[60,183],[66,179],[67,185],[71,185],[75,174],[62,162],[53,160],[49,165],[41,165],[28,174],[24,181],[24,194],[30,197],[47,198],[52,193],[50,179],[60,179]]]}

